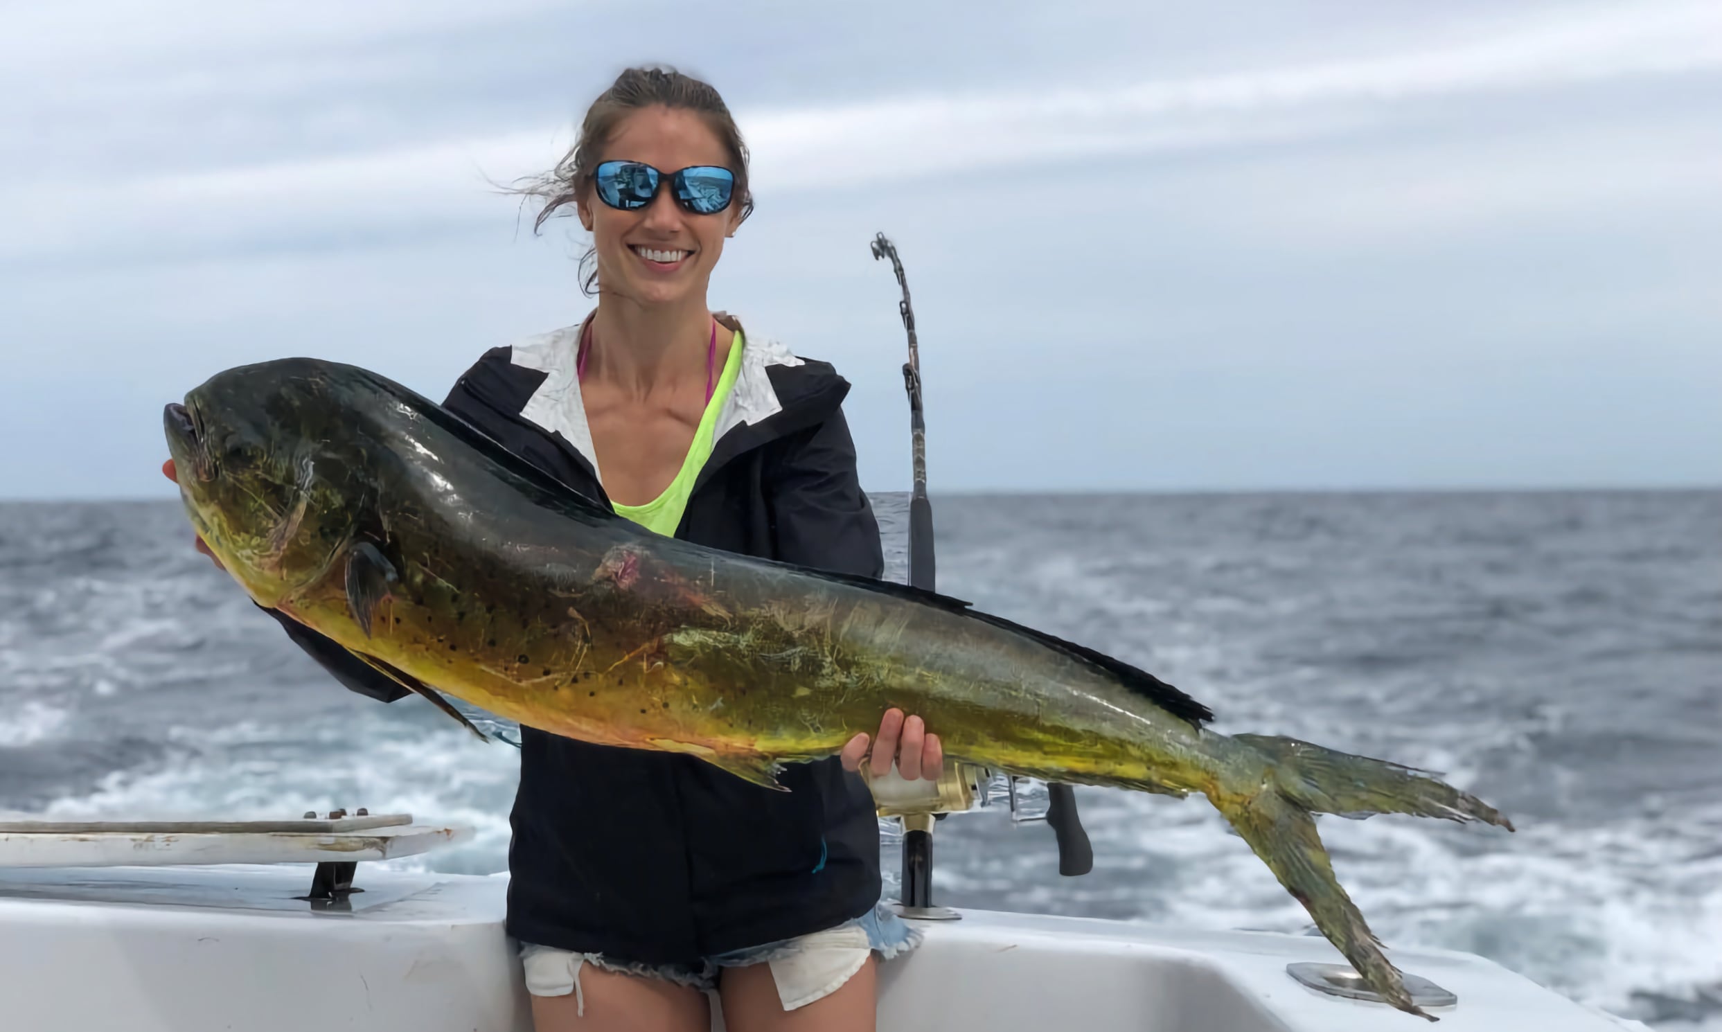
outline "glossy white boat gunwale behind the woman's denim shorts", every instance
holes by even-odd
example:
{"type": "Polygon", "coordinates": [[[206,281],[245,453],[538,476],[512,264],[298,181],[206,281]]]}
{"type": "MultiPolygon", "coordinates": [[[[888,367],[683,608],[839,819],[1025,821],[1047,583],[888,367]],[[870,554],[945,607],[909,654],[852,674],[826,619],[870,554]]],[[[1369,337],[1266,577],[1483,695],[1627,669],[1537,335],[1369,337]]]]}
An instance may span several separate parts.
{"type": "MultiPolygon", "coordinates": [[[[338,903],[312,865],[0,870],[5,1029],[57,1032],[530,1032],[503,932],[506,877],[360,868],[338,903]]],[[[1376,1032],[1422,1029],[1326,996],[1286,965],[1324,939],[966,911],[882,972],[880,1029],[1376,1032]]],[[[1619,1032],[1486,960],[1395,949],[1457,994],[1446,1032],[1619,1032]]],[[[722,1015],[715,1018],[722,1029],[722,1015]]]]}

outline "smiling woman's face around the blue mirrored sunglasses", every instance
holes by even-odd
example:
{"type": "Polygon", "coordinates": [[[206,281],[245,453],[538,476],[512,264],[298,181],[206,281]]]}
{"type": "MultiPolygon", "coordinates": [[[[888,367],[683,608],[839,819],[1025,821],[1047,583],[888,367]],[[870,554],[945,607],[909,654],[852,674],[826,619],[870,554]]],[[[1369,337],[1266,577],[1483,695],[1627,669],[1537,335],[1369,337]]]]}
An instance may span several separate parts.
{"type": "MultiPolygon", "coordinates": [[[[666,107],[647,107],[623,119],[599,155],[599,162],[613,160],[651,165],[665,179],[689,165],[734,164],[697,114],[666,107]]],[[[587,188],[579,210],[580,222],[592,233],[598,283],[604,293],[615,291],[641,305],[673,305],[689,298],[704,303],[723,238],[737,226],[740,198],[713,215],[696,215],[675,202],[665,181],[644,208],[613,208],[587,188]]]]}

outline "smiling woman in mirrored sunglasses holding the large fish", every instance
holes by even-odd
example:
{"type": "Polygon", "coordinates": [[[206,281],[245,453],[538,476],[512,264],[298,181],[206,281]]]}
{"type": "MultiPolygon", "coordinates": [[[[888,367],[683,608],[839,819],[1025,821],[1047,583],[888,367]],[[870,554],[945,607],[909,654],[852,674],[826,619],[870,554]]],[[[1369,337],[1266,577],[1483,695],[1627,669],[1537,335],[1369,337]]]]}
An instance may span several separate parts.
{"type": "MultiPolygon", "coordinates": [[[[592,234],[582,286],[596,283],[598,308],[484,355],[448,408],[661,534],[880,575],[840,408],[849,384],[706,303],[723,241],[753,210],[747,152],[718,93],[677,72],[623,72],[527,193],[546,202],[539,226],[572,205],[592,234]]],[[[406,694],[274,615],[353,691],[406,694]]],[[[885,713],[871,743],[858,734],[839,758],[789,768],[789,793],[691,756],[520,737],[508,932],[539,1032],[703,1030],[703,989],[734,1032],[873,1029],[875,954],[916,937],[880,906],[878,825],[858,770],[895,760],[906,777],[938,777],[938,739],[920,718],[885,713]]]]}

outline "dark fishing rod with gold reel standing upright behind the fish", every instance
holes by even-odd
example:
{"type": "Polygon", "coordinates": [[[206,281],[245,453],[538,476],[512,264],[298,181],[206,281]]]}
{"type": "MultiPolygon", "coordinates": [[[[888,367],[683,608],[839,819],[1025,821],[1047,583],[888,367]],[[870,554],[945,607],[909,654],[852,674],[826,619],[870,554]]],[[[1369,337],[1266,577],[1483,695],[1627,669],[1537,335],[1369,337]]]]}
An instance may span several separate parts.
{"type": "MultiPolygon", "coordinates": [[[[921,405],[921,346],[914,336],[914,307],[909,302],[909,277],[902,270],[902,258],[897,246],[880,233],[873,238],[873,258],[889,258],[890,270],[897,276],[902,300],[897,302],[897,314],[902,315],[902,329],[909,334],[909,360],[902,364],[902,389],[909,395],[909,438],[913,445],[914,486],[909,493],[909,584],[925,591],[935,591],[937,569],[933,560],[933,503],[926,498],[926,415],[921,405]]],[[[940,798],[944,782],[957,782],[956,798],[966,799],[975,793],[983,793],[976,784],[964,784],[964,772],[951,770],[945,765],[940,775],[940,798]],[[952,777],[956,774],[956,777],[952,777]]],[[[957,765],[961,767],[961,765],[957,765]]],[[[1011,811],[1016,813],[1016,779],[1006,777],[1011,794],[1011,811]]],[[[933,815],[909,808],[902,818],[902,906],[913,917],[954,918],[956,911],[933,906],[933,815]]],[[[1093,870],[1093,848],[1088,834],[1081,827],[1076,813],[1076,793],[1068,784],[1047,784],[1047,824],[1059,844],[1059,873],[1085,875],[1093,870]]]]}

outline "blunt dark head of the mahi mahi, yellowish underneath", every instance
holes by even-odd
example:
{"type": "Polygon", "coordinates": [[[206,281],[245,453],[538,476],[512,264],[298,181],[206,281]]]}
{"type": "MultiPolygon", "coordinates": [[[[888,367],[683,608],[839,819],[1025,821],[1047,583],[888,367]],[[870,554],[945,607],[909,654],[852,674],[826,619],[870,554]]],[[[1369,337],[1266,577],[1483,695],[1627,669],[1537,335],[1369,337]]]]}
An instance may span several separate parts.
{"type": "Polygon", "coordinates": [[[374,496],[363,420],[341,369],[305,358],[241,365],[162,412],[186,515],[269,608],[331,570],[374,496]]]}

